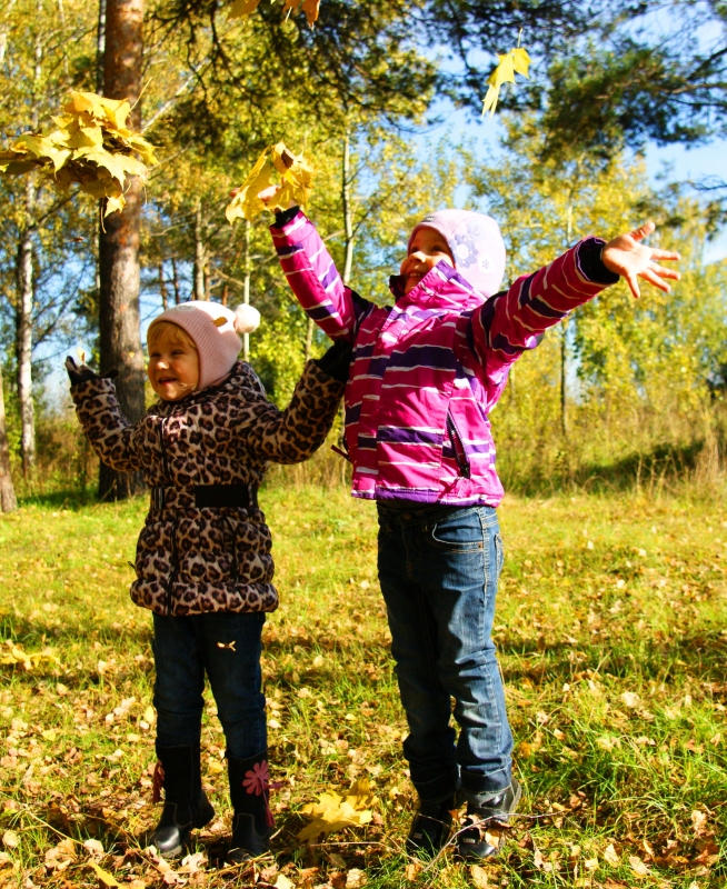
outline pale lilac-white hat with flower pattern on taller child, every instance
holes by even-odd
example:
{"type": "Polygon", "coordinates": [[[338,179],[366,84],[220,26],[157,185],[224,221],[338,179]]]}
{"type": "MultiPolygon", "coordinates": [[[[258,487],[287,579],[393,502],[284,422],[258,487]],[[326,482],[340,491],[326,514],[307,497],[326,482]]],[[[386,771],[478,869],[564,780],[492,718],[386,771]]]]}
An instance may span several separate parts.
{"type": "Polygon", "coordinates": [[[435,229],[449,244],[455,268],[484,297],[500,289],[505,274],[505,243],[500,227],[489,216],[472,210],[437,210],[415,228],[435,229]]]}

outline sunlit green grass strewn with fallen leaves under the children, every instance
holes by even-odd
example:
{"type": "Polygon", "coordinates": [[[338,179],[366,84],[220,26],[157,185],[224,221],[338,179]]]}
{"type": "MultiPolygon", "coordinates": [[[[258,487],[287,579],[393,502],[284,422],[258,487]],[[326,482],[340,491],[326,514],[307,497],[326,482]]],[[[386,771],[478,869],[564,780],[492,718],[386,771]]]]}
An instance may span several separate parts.
{"type": "MultiPolygon", "coordinates": [[[[262,502],[281,593],[263,637],[281,782],[275,849],[293,885],[353,886],[353,869],[369,887],[725,885],[724,502],[506,500],[496,639],[524,817],[498,861],[475,875],[449,853],[424,868],[402,855],[415,799],[376,578],[375,508],[343,490],[282,483],[262,502]],[[300,846],[302,806],[361,777],[371,781],[374,821],[300,846]],[[635,865],[648,870],[639,876],[635,865]]],[[[0,883],[94,886],[82,846],[94,838],[101,867],[121,886],[162,885],[139,851],[158,815],[150,616],[127,592],[145,512],[143,500],[29,505],[0,519],[0,638],[58,659],[0,667],[0,835],[10,843],[0,846],[0,883]],[[59,851],[63,837],[77,842],[59,851]]],[[[259,869],[215,867],[229,807],[211,699],[203,745],[219,817],[198,835],[210,863],[179,878],[252,886],[259,869]]]]}

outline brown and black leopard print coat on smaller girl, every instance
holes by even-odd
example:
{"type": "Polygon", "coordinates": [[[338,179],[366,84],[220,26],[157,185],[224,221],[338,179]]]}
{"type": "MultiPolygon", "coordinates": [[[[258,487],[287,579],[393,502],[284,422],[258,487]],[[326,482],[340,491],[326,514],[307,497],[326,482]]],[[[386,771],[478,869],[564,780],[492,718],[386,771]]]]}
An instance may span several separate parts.
{"type": "Polygon", "coordinates": [[[259,485],[270,462],[308,459],[325,441],[343,383],[313,361],[283,411],[267,400],[249,364],[182,401],[159,401],[133,426],[119,410],[111,380],[71,388],[76,412],[101,460],[142,470],[163,488],[137,545],[131,599],[158,615],[275,611],[270,530],[259,508],[197,508],[192,488],[259,485]]]}

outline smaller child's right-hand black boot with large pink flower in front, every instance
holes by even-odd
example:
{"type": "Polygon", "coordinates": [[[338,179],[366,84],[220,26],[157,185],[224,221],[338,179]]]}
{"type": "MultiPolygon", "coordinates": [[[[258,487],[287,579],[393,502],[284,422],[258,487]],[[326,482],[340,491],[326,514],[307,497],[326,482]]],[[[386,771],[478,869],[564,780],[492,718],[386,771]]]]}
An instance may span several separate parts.
{"type": "Polygon", "coordinates": [[[270,811],[268,751],[257,757],[233,759],[228,756],[227,770],[230,777],[232,840],[227,860],[241,865],[270,851],[270,836],[275,821],[270,811]]]}

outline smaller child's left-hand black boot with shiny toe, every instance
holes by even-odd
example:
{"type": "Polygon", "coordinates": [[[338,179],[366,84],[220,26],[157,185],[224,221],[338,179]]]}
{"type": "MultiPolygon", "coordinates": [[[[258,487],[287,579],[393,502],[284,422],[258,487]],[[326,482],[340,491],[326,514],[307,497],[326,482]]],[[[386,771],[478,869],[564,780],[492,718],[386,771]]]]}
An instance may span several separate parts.
{"type": "Polygon", "coordinates": [[[191,747],[157,746],[155,802],[165,789],[165,808],[149,846],[159,855],[175,858],[181,853],[195,828],[205,827],[215,818],[215,809],[202,790],[199,745],[191,747]]]}

